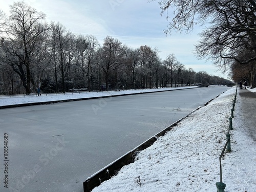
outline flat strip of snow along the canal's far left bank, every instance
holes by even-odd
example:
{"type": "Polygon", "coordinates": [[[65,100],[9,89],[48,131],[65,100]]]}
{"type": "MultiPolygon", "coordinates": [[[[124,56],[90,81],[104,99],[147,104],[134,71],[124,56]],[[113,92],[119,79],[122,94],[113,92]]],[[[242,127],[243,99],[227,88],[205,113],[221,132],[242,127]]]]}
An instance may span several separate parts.
{"type": "Polygon", "coordinates": [[[124,90],[124,91],[104,91],[104,92],[67,92],[66,94],[42,94],[37,97],[37,94],[33,95],[13,95],[13,96],[0,96],[0,106],[13,105],[13,104],[24,104],[24,103],[36,103],[36,102],[48,102],[48,101],[61,101],[67,99],[80,99],[80,98],[93,98],[93,97],[104,97],[104,96],[115,96],[115,95],[127,95],[136,93],[148,93],[157,91],[168,91],[168,90],[179,90],[179,89],[191,89],[198,88],[197,86],[191,87],[180,87],[180,88],[159,88],[159,89],[144,89],[144,90],[124,90]]]}

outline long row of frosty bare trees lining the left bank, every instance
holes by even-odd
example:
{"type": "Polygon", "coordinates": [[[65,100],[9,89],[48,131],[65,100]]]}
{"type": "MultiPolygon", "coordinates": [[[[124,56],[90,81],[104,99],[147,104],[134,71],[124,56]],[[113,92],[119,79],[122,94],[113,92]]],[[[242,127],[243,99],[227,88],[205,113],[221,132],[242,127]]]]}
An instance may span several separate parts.
{"type": "Polygon", "coordinates": [[[70,89],[137,89],[222,83],[206,72],[196,73],[170,54],[161,61],[157,48],[132,49],[106,36],[100,45],[93,35],[76,35],[24,2],[0,12],[0,92],[30,94],[70,89]]]}

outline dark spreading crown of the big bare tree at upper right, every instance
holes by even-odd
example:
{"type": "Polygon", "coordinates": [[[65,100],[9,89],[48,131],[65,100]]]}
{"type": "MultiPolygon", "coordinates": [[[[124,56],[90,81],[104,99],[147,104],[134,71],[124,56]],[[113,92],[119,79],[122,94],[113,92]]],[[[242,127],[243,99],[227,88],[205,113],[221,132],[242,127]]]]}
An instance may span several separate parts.
{"type": "Polygon", "coordinates": [[[224,67],[234,60],[241,64],[256,60],[256,8],[250,1],[215,1],[207,6],[205,12],[213,14],[215,25],[201,33],[199,57],[213,56],[215,63],[224,67]],[[239,57],[245,52],[251,56],[239,57]]]}

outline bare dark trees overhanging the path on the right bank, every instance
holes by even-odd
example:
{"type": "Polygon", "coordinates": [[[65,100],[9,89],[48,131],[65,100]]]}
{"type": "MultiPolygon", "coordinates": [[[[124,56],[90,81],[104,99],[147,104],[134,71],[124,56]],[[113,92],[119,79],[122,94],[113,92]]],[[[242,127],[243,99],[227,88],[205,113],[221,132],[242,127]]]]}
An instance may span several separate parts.
{"type": "MultiPolygon", "coordinates": [[[[155,0],[152,0],[155,1],[155,0]]],[[[212,60],[234,81],[256,87],[256,2],[254,0],[162,0],[162,12],[174,9],[166,33],[205,25],[196,49],[199,58],[212,60]]],[[[169,17],[170,15],[167,15],[169,17]]]]}

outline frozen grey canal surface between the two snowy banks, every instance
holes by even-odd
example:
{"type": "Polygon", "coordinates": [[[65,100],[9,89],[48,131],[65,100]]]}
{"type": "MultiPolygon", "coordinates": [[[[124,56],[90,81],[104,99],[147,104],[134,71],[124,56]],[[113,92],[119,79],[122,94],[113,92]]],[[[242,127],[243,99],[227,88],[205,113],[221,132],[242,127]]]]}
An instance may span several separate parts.
{"type": "Polygon", "coordinates": [[[82,192],[82,182],[227,90],[198,88],[0,110],[0,191],[82,192]],[[8,188],[4,187],[8,134],[8,188]]]}

